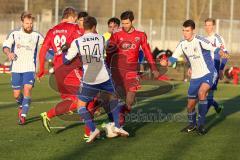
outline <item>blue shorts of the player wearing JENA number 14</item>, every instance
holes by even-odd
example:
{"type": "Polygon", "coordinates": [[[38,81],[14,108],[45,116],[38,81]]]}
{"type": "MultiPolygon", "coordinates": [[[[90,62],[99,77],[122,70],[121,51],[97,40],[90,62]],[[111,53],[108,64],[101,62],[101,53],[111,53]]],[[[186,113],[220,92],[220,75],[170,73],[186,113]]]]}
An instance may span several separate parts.
{"type": "Polygon", "coordinates": [[[106,82],[94,85],[82,83],[78,98],[83,102],[90,102],[97,96],[100,91],[114,94],[115,88],[112,80],[109,79],[106,82]]]}

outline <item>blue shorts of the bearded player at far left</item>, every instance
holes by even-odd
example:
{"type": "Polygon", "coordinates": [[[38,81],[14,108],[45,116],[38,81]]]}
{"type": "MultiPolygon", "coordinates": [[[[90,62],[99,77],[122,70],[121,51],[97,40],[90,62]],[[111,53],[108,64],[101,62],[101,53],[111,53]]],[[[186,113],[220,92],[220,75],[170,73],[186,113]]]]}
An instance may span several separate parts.
{"type": "Polygon", "coordinates": [[[34,85],[35,72],[24,72],[24,73],[12,73],[12,88],[14,90],[20,90],[25,84],[34,85]]]}

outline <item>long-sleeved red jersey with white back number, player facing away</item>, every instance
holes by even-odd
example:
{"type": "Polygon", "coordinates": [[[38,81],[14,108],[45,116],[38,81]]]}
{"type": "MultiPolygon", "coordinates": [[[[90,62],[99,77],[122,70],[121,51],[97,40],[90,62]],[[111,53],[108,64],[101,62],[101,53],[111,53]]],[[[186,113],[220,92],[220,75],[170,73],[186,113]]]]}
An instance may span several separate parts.
{"type": "Polygon", "coordinates": [[[53,63],[56,69],[63,64],[61,52],[62,45],[70,45],[74,39],[81,35],[83,35],[82,30],[79,29],[76,23],[63,22],[50,29],[39,53],[40,71],[44,70],[45,56],[50,48],[54,51],[53,63]]]}

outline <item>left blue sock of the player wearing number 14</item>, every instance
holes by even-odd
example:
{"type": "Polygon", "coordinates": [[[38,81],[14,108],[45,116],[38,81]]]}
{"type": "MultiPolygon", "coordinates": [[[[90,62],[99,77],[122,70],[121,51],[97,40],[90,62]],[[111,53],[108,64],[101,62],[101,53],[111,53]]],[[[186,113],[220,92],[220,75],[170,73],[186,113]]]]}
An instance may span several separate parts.
{"type": "Polygon", "coordinates": [[[92,120],[92,117],[91,117],[90,113],[86,109],[86,107],[80,107],[78,109],[78,114],[83,118],[85,124],[89,127],[91,132],[95,131],[96,126],[95,126],[95,124],[92,120]]]}

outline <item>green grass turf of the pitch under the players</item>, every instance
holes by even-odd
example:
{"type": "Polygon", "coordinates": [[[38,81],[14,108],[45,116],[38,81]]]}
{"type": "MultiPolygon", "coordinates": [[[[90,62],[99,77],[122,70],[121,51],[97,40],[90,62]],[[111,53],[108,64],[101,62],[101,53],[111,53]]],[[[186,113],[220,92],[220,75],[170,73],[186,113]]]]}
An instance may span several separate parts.
{"type": "MultiPolygon", "coordinates": [[[[47,77],[41,83],[35,83],[28,124],[18,126],[10,76],[1,74],[0,159],[240,159],[240,86],[219,85],[216,99],[224,105],[224,112],[217,117],[211,108],[207,117],[208,133],[198,136],[180,132],[187,124],[188,85],[171,82],[173,88],[164,94],[159,92],[159,95],[148,92],[156,85],[143,86],[133,114],[127,117],[125,129],[131,136],[85,144],[80,122],[56,117],[51,126],[64,128],[53,129],[51,134],[43,129],[39,114],[59,101],[59,95],[50,89],[47,77]]],[[[97,123],[104,120],[105,116],[98,117],[97,123]]]]}

